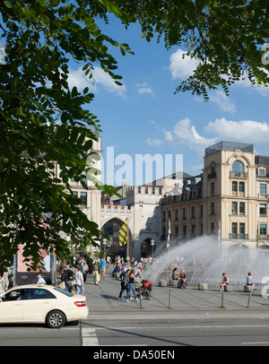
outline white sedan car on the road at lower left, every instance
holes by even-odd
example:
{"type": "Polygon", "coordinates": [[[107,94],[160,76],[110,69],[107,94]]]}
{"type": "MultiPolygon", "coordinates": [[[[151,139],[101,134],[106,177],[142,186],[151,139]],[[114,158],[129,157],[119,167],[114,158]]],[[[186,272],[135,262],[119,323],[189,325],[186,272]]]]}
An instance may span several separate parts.
{"type": "Polygon", "coordinates": [[[0,323],[36,323],[59,328],[87,318],[86,297],[50,285],[25,285],[0,295],[0,323]]]}

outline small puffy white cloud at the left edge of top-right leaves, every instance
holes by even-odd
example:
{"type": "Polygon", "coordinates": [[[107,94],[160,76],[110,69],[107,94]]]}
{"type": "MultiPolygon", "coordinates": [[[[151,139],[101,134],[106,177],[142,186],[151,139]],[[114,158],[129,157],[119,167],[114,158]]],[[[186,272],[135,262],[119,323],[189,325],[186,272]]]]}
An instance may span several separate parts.
{"type": "Polygon", "coordinates": [[[182,49],[178,49],[170,56],[169,70],[173,79],[180,78],[181,80],[187,79],[196,69],[197,60],[190,56],[183,55],[186,52],[182,49]]]}

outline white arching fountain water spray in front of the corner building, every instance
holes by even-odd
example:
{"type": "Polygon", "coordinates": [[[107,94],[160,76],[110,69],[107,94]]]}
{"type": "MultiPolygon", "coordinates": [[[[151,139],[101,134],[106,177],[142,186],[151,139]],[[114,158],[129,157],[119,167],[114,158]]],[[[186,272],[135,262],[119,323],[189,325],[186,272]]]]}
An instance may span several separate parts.
{"type": "Polygon", "coordinates": [[[179,273],[184,269],[188,285],[194,287],[206,282],[209,287],[219,288],[222,273],[227,273],[230,283],[239,287],[246,284],[248,272],[252,273],[255,283],[269,275],[269,250],[249,249],[242,244],[224,248],[215,236],[193,238],[179,245],[171,243],[169,251],[162,252],[157,263],[143,273],[145,279],[169,280],[173,266],[178,267],[179,273]]]}

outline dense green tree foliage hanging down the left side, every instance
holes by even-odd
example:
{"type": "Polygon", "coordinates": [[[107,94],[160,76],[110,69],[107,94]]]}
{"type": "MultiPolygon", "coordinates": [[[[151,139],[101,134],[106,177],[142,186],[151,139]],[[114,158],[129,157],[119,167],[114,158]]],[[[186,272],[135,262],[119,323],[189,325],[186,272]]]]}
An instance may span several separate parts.
{"type": "MultiPolygon", "coordinates": [[[[19,244],[25,244],[25,261],[32,256],[36,268],[40,248],[53,244],[56,254],[68,256],[63,236],[81,246],[100,239],[98,225],[82,212],[70,186],[73,178],[88,188],[87,173],[98,188],[113,191],[87,168],[100,123],[87,109],[93,94],[88,88],[70,90],[67,79],[73,59],[88,77],[98,63],[120,84],[107,45],[123,54],[130,49],[100,31],[94,19],[107,21],[106,13],[99,1],[0,2],[0,261],[5,266],[19,244]]],[[[126,22],[122,12],[116,15],[126,22]]]]}

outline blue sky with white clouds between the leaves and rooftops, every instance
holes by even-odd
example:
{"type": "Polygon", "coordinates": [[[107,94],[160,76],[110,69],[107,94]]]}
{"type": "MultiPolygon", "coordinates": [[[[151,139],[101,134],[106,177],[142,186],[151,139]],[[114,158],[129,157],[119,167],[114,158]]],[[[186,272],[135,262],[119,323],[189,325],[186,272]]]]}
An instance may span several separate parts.
{"type": "MultiPolygon", "coordinates": [[[[168,51],[156,39],[148,43],[141,39],[138,25],[125,30],[119,22],[112,21],[102,29],[134,51],[134,56],[122,56],[119,48],[111,50],[124,85],[115,85],[98,65],[94,86],[78,65],[71,65],[69,82],[81,90],[91,85],[95,98],[89,109],[100,119],[105,169],[107,152],[113,148],[114,169],[118,171],[115,185],[121,175],[123,180],[135,184],[134,160],[140,154],[161,154],[163,160],[168,154],[173,158],[182,154],[183,169],[192,176],[202,172],[204,149],[220,141],[253,143],[257,154],[269,155],[269,90],[253,88],[250,82],[241,80],[230,88],[229,97],[220,89],[210,93],[209,102],[191,92],[175,95],[176,87],[191,74],[195,63],[189,58],[182,60],[182,49],[168,51]],[[133,174],[124,173],[125,156],[133,160],[133,174]]],[[[175,162],[173,169],[176,168],[175,162]]]]}

